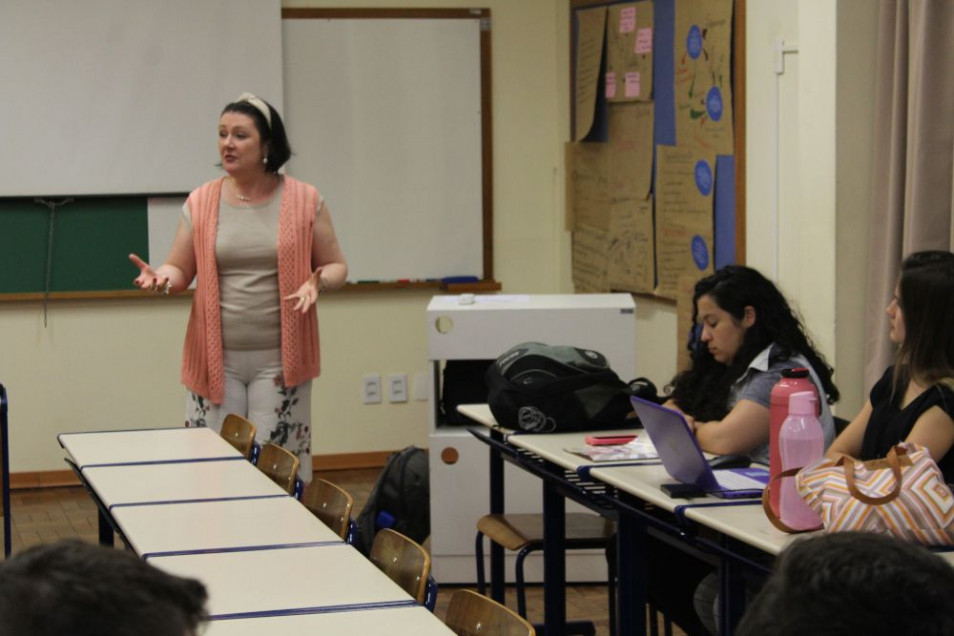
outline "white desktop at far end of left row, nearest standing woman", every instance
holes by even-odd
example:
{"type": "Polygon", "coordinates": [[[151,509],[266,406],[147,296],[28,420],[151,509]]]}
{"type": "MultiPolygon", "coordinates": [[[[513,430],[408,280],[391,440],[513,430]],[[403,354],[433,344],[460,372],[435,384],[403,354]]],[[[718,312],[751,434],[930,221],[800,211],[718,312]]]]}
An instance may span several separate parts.
{"type": "Polygon", "coordinates": [[[61,433],[60,445],[77,466],[241,457],[210,428],[61,433]]]}

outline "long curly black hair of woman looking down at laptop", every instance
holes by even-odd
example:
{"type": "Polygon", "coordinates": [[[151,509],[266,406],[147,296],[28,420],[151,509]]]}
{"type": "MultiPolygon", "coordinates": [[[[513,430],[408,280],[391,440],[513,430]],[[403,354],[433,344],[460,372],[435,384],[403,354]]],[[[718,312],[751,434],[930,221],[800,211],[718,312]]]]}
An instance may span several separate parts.
{"type": "Polygon", "coordinates": [[[692,297],[692,328],[689,331],[691,366],[678,374],[667,387],[669,397],[679,408],[701,421],[721,420],[729,412],[729,392],[752,360],[766,347],[774,345],[773,359],[786,360],[801,354],[818,374],[829,404],[838,401],[838,387],[832,381],[833,369],[815,350],[801,322],[785,296],[760,272],[743,265],[726,265],[696,283],[692,297]],[[745,330],[741,347],[728,364],[713,357],[701,342],[702,324],[698,303],[709,296],[734,319],[743,320],[746,308],[754,309],[755,322],[745,330]]]}

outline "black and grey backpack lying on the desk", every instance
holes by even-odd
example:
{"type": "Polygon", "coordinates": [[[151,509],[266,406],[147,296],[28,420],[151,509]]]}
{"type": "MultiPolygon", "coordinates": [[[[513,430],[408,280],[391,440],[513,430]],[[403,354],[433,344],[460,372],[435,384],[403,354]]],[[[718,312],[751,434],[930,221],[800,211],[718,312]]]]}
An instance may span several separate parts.
{"type": "Polygon", "coordinates": [[[531,433],[637,425],[630,390],[603,354],[524,342],[487,369],[487,403],[497,422],[531,433]]]}

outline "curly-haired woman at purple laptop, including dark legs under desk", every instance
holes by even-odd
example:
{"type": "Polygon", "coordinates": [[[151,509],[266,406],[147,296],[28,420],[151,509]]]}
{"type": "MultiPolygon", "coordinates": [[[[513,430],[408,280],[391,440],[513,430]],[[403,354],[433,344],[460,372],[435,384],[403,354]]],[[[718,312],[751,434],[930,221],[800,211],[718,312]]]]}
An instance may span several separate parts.
{"type": "MultiPolygon", "coordinates": [[[[825,444],[835,438],[829,405],[839,398],[832,368],[815,350],[774,283],[757,270],[728,265],[696,283],[691,366],[669,387],[666,406],[686,415],[703,450],[769,462],[772,388],[790,368],[807,368],[820,396],[825,444]]],[[[716,633],[714,568],[654,541],[650,597],[687,634],[716,633]]]]}

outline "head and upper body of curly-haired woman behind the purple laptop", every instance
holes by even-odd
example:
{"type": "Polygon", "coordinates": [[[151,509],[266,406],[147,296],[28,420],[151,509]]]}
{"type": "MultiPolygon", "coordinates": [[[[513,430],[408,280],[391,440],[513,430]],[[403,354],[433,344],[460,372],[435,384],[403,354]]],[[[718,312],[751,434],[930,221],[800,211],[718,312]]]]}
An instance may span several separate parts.
{"type": "Polygon", "coordinates": [[[795,367],[811,374],[831,444],[829,405],[840,397],[833,370],[778,288],[751,267],[728,265],[696,283],[692,300],[692,366],[673,379],[667,406],[688,416],[702,449],[767,464],[772,388],[795,367]]]}

